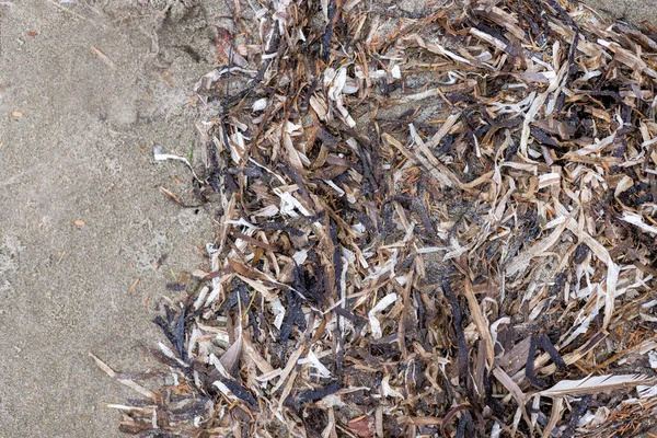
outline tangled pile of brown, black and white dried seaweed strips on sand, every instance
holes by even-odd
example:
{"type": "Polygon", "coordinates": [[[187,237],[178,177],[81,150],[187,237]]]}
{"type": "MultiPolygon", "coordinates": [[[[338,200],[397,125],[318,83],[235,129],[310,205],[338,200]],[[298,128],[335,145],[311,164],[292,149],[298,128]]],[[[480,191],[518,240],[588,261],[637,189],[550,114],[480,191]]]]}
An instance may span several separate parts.
{"type": "Polygon", "coordinates": [[[122,428],[650,426],[657,30],[556,0],[377,3],[278,0],[219,28],[194,174],[211,270],[157,321],[165,384],[104,366],[147,396],[114,406],[122,428]]]}

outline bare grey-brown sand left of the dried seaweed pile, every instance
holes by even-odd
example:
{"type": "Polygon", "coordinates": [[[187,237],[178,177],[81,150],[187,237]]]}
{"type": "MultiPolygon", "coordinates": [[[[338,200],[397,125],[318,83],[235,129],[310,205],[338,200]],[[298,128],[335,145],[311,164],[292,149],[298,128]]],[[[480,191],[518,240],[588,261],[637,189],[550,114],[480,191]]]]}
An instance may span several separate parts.
{"type": "Polygon", "coordinates": [[[171,273],[204,262],[211,220],[159,193],[189,174],[152,148],[197,141],[216,11],[169,3],[0,2],[0,437],[119,436],[105,403],[137,394],[88,353],[147,369],[171,273]]]}

